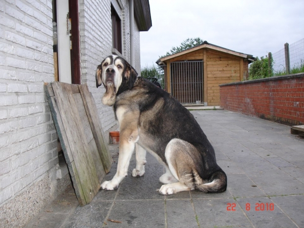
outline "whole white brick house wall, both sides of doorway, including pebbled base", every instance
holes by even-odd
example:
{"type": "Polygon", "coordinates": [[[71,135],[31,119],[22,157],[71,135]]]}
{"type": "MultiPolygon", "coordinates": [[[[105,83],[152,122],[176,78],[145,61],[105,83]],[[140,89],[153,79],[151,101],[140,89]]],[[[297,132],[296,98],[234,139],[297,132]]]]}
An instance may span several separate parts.
{"type": "MultiPolygon", "coordinates": [[[[124,57],[130,60],[129,2],[124,5],[124,57]]],[[[111,54],[110,0],[79,0],[82,84],[87,84],[105,131],[117,129],[101,103],[95,72],[111,54]]],[[[57,133],[44,92],[54,81],[51,0],[0,1],[0,226],[22,227],[70,183],[56,179],[57,133]]],[[[135,25],[136,43],[139,31],[135,25]]],[[[140,67],[139,45],[135,48],[140,67]]]]}

